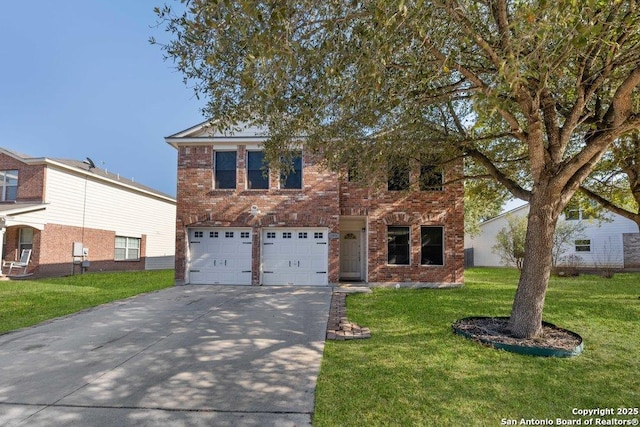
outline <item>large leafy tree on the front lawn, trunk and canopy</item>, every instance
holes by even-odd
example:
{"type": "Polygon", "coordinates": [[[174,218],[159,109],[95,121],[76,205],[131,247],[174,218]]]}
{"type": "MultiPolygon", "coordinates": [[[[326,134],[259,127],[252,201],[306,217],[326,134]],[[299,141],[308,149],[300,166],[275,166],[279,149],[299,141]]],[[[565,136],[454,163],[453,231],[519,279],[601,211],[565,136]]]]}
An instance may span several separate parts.
{"type": "Polygon", "coordinates": [[[228,129],[304,135],[372,176],[390,154],[467,156],[530,204],[510,316],[541,331],[558,216],[640,125],[640,11],[603,0],[190,0],[164,46],[228,129]],[[354,160],[357,159],[357,160],[354,160]]]}

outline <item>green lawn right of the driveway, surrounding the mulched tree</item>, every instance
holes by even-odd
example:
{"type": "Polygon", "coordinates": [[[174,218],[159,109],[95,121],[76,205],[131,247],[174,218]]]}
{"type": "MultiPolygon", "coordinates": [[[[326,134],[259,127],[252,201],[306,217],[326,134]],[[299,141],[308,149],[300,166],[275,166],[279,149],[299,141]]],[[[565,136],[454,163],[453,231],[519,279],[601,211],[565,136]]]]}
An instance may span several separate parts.
{"type": "Polygon", "coordinates": [[[640,406],[640,274],[551,279],[544,320],[584,339],[584,352],[571,359],[508,353],[454,335],[457,319],[508,316],[518,275],[476,268],[465,277],[461,289],[349,296],[349,320],[369,327],[372,338],[327,341],[314,425],[555,423],[581,418],[573,408],[640,406]]]}

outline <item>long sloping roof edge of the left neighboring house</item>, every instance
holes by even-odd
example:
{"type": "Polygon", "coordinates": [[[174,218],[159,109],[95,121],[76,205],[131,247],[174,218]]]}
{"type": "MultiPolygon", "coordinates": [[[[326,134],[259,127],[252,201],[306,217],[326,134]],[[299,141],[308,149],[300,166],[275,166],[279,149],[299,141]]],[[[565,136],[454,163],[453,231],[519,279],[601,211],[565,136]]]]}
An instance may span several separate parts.
{"type": "Polygon", "coordinates": [[[45,165],[49,167],[57,167],[58,169],[86,175],[99,181],[108,182],[119,187],[128,188],[140,193],[151,195],[153,197],[164,199],[171,203],[176,202],[175,198],[173,198],[172,196],[161,191],[154,190],[153,188],[147,187],[146,185],[139,184],[132,179],[121,177],[120,174],[108,172],[105,169],[100,169],[97,167],[91,167],[88,161],[72,159],[50,159],[47,157],[31,157],[26,154],[21,154],[3,147],[0,147],[0,154],[5,154],[9,157],[13,157],[14,159],[28,165],[45,165]]]}

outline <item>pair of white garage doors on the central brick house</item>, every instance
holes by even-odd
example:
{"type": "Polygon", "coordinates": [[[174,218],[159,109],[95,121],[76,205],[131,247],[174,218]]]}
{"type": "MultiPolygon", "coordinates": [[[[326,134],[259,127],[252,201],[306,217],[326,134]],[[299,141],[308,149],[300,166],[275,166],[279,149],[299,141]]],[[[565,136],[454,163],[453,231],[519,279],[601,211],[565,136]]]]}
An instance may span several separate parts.
{"type": "MultiPolygon", "coordinates": [[[[326,285],[328,233],[323,228],[270,228],[260,239],[260,283],[326,285]]],[[[189,283],[250,285],[250,228],[189,229],[189,283]]]]}

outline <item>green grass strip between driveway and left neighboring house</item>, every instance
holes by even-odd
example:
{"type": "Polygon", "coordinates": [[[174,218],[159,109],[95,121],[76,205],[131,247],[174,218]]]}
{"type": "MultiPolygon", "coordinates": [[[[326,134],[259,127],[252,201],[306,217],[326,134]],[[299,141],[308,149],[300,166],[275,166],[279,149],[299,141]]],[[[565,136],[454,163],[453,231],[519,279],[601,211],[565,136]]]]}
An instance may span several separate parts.
{"type": "Polygon", "coordinates": [[[0,333],[173,285],[173,270],[0,282],[0,333]]]}

